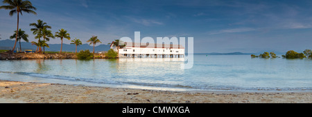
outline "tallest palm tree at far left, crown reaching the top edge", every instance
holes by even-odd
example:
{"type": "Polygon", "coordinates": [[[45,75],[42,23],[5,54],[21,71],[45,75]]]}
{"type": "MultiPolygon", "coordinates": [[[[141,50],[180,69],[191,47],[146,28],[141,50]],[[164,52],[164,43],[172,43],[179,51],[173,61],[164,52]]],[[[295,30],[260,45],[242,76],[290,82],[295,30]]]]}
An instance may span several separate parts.
{"type": "MultiPolygon", "coordinates": [[[[10,11],[10,16],[12,17],[13,14],[17,13],[17,30],[16,32],[18,32],[19,30],[19,13],[21,13],[21,15],[23,15],[22,12],[27,12],[27,13],[32,13],[32,14],[37,14],[35,11],[33,10],[37,10],[37,8],[33,7],[33,4],[31,3],[31,1],[23,1],[23,0],[3,0],[3,3],[8,3],[8,6],[0,6],[0,9],[6,9],[6,10],[11,10],[10,11]]],[[[16,33],[16,37],[15,37],[15,44],[14,47],[12,49],[12,52],[14,52],[15,47],[16,47],[16,43],[17,43],[17,35],[18,33],[16,33]]]]}

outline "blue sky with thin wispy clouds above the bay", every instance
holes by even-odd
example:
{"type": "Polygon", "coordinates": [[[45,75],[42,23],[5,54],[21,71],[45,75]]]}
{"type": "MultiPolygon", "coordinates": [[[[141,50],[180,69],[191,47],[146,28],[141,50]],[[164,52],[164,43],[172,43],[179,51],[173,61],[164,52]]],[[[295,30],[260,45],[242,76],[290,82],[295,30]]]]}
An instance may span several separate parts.
{"type": "MultiPolygon", "coordinates": [[[[30,0],[34,14],[19,17],[19,28],[36,41],[29,23],[38,19],[83,43],[92,35],[103,44],[135,32],[141,38],[193,37],[194,52],[302,52],[312,49],[310,0],[30,0]]],[[[0,3],[3,6],[3,3],[0,3]]],[[[0,10],[0,38],[8,39],[17,15],[0,10]]],[[[70,43],[64,40],[64,43],[70,43]]],[[[51,39],[51,44],[61,43],[51,39]]]]}

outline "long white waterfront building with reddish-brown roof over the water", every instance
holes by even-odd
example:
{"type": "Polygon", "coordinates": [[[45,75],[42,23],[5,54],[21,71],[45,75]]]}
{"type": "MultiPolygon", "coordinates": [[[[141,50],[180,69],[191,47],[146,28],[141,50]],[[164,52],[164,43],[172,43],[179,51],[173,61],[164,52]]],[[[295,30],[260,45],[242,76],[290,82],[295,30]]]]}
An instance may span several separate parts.
{"type": "MultiPolygon", "coordinates": [[[[114,41],[112,42],[114,43],[114,41]]],[[[113,44],[110,48],[115,52],[118,49],[113,44]]],[[[127,43],[125,47],[119,48],[119,57],[135,58],[180,58],[184,57],[185,48],[182,45],[158,44],[158,43],[127,43]]]]}

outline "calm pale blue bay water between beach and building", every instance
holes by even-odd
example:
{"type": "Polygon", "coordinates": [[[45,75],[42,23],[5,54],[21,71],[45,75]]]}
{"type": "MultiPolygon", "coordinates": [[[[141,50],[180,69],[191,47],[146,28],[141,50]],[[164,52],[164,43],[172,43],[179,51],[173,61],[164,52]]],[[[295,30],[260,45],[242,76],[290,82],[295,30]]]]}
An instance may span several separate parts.
{"type": "Polygon", "coordinates": [[[249,55],[195,55],[183,58],[123,58],[0,61],[0,79],[163,90],[312,91],[312,61],[250,58],[249,55]]]}

